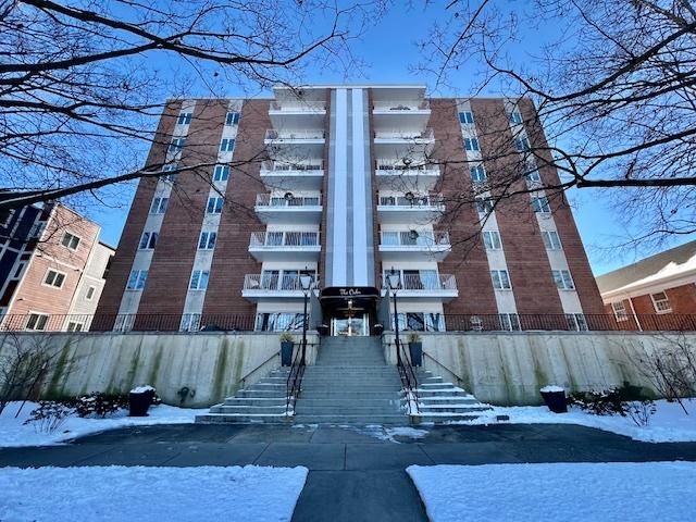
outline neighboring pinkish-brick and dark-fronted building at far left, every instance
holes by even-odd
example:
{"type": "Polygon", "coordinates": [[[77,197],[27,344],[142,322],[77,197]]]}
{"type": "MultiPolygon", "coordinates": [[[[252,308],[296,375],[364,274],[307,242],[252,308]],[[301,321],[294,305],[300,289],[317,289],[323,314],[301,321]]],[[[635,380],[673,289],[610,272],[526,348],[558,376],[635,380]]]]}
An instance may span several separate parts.
{"type": "Polygon", "coordinates": [[[113,256],[100,227],[49,203],[11,212],[0,231],[1,327],[88,330],[113,256]]]}

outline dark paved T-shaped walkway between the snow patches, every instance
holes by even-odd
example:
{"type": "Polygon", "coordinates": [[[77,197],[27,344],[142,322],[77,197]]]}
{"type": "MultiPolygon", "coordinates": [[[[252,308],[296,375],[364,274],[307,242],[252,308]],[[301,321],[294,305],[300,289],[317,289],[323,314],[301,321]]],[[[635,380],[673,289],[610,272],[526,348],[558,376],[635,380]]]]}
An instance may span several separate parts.
{"type": "Polygon", "coordinates": [[[438,426],[423,438],[381,427],[170,425],[130,427],[65,446],[0,449],[0,467],[304,465],[295,521],[423,521],[411,464],[696,461],[696,443],[645,444],[584,426],[438,426]],[[396,444],[396,443],[400,444],[396,444]]]}

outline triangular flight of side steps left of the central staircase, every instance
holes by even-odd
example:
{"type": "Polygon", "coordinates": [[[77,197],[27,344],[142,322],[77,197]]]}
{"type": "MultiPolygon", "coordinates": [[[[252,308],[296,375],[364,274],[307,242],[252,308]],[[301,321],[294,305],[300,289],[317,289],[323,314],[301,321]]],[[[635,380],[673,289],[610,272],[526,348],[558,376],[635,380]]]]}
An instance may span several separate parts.
{"type": "Polygon", "coordinates": [[[285,414],[287,375],[289,369],[274,370],[268,377],[240,389],[234,397],[210,407],[210,411],[196,417],[196,422],[220,423],[281,423],[285,414]]]}

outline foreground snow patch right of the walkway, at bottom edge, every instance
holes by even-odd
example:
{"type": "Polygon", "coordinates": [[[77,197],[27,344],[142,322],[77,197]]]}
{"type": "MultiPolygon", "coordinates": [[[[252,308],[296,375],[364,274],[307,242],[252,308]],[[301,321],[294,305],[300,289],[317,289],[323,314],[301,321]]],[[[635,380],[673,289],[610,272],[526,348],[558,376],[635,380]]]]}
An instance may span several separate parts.
{"type": "Polygon", "coordinates": [[[676,522],[696,512],[696,463],[407,468],[431,522],[676,522]]]}

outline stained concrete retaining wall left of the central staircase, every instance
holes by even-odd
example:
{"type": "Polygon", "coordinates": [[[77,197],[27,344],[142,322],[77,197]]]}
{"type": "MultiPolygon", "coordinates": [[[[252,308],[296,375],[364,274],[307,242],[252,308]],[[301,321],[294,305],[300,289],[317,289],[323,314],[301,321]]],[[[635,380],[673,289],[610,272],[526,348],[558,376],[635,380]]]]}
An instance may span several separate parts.
{"type": "MultiPolygon", "coordinates": [[[[277,334],[261,333],[7,334],[0,340],[0,361],[16,343],[55,350],[42,397],[127,393],[150,384],[164,402],[178,405],[177,391],[186,386],[195,394],[184,402],[187,407],[207,407],[234,395],[241,378],[281,348],[277,334]]],[[[307,361],[313,364],[316,335],[308,335],[308,343],[307,361]]],[[[247,384],[279,365],[279,357],[272,358],[247,384]]]]}

